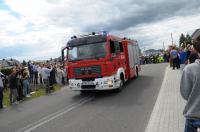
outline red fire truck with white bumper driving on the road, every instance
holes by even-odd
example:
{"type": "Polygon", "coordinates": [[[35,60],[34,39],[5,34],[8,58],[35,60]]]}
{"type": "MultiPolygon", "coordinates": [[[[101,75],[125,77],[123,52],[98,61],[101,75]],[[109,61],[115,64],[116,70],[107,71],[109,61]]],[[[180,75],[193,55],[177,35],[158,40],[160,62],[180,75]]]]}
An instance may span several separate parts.
{"type": "Polygon", "coordinates": [[[81,92],[120,91],[140,71],[137,41],[107,32],[73,36],[62,49],[62,58],[66,59],[69,87],[81,92]]]}

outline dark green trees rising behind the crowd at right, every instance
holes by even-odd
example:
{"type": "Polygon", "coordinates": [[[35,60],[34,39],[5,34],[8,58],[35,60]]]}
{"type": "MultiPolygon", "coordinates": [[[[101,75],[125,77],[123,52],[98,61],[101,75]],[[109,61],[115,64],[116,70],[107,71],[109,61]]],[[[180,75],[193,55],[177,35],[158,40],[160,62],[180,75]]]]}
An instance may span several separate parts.
{"type": "Polygon", "coordinates": [[[187,44],[192,44],[192,38],[189,34],[186,34],[186,36],[182,33],[179,39],[179,47],[183,45],[183,47],[186,47],[187,44]]]}

